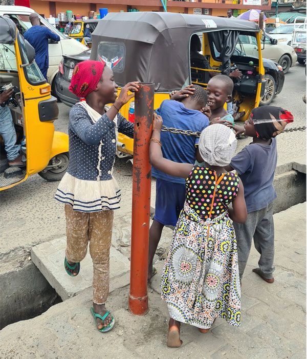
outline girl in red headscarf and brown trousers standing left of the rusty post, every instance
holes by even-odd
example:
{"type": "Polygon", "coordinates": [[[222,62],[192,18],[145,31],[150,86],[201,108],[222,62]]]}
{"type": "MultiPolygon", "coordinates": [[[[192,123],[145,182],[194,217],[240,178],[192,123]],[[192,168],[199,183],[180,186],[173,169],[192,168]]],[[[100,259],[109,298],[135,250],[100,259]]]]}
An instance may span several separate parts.
{"type": "Polygon", "coordinates": [[[93,308],[101,332],[114,326],[105,308],[109,290],[109,251],[114,210],[120,208],[120,189],[113,177],[117,134],[133,137],[134,125],[119,113],[138,91],[128,83],[117,98],[113,71],[98,61],[83,61],[74,68],[70,91],[84,97],[69,115],[69,167],[55,198],[65,204],[67,247],[64,268],[76,276],[90,243],[93,260],[93,308]],[[109,109],[106,104],[113,104],[109,109]]]}

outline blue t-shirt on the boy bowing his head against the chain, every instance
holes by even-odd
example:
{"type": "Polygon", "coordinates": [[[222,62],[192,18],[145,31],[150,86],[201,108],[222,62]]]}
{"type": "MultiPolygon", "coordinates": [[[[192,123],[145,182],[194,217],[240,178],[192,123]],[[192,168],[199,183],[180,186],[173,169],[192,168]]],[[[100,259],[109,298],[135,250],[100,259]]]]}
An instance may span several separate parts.
{"type": "MultiPolygon", "coordinates": [[[[166,99],[160,105],[157,113],[163,119],[163,125],[180,130],[201,132],[209,126],[209,119],[201,111],[190,110],[181,102],[166,99]]],[[[177,163],[195,162],[195,145],[199,143],[199,137],[161,132],[163,157],[177,163]]],[[[185,183],[184,178],[173,177],[152,167],[151,173],[156,178],[174,183],[185,183]]]]}

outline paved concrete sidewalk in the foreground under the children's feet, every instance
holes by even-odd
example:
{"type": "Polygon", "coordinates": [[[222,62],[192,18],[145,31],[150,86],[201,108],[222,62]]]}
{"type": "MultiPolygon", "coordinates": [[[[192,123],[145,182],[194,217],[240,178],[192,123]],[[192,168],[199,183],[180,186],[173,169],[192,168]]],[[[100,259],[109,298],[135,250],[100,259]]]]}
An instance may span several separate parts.
{"type": "MultiPolygon", "coordinates": [[[[92,291],[87,288],[42,315],[2,329],[0,357],[304,358],[305,262],[280,261],[297,252],[305,260],[305,204],[275,214],[274,222],[275,282],[268,284],[252,272],[259,258],[252,248],[242,280],[242,325],[239,328],[231,327],[222,318],[215,321],[207,334],[183,324],[183,345],[167,348],[168,310],[160,298],[159,282],[163,269],[163,261],[160,261],[155,264],[158,274],[149,283],[148,314],[130,314],[127,310],[128,287],[117,289],[106,304],[115,317],[115,327],[111,332],[101,334],[90,313],[92,291]]],[[[61,239],[54,244],[63,246],[61,239]]],[[[41,252],[45,250],[47,253],[52,245],[49,242],[41,252]]],[[[60,266],[62,268],[62,257],[60,266]]],[[[111,284],[113,281],[111,279],[111,284]]]]}

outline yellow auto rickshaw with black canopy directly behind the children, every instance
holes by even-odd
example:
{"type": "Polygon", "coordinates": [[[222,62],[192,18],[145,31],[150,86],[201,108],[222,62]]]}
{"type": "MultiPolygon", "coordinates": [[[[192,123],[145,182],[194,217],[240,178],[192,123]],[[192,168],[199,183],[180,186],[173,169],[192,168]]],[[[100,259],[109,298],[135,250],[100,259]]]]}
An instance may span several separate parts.
{"type": "MultiPolygon", "coordinates": [[[[201,37],[203,55],[213,71],[229,74],[237,68],[243,73],[234,83],[233,106],[245,113],[241,118],[245,121],[265,91],[260,29],[255,23],[167,12],[108,13],[92,34],[91,59],[106,62],[119,86],[130,81],[155,83],[154,107],[158,108],[172,90],[190,84],[207,86],[201,74],[212,70],[190,65],[193,34],[201,37]],[[255,37],[257,58],[245,54],[239,35],[255,37]]],[[[131,120],[133,112],[133,102],[121,110],[131,120]]],[[[119,134],[118,141],[121,156],[133,154],[133,139],[119,134]]]]}

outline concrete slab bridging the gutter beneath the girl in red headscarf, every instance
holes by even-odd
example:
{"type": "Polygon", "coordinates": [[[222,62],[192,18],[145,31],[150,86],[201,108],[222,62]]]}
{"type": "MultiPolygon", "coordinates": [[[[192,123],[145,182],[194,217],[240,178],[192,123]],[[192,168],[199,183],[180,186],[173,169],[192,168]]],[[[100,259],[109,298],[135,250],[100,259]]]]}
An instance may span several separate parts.
{"type": "MultiPolygon", "coordinates": [[[[66,237],[41,243],[31,250],[33,263],[45,276],[63,301],[92,286],[93,264],[89,251],[81,262],[78,276],[70,277],[64,270],[66,237]]],[[[111,246],[110,292],[130,282],[130,262],[127,257],[111,246]]]]}

